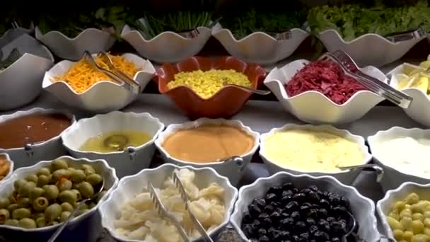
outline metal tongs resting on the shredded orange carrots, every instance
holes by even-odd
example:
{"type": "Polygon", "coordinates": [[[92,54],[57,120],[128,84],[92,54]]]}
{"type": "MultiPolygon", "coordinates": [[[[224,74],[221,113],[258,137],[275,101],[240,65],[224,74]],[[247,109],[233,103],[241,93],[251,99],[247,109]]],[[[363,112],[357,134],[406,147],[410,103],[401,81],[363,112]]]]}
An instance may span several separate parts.
{"type": "Polygon", "coordinates": [[[109,55],[106,52],[100,52],[99,55],[105,57],[108,60],[106,64],[108,64],[108,67],[110,68],[110,70],[100,67],[100,65],[97,64],[97,62],[95,62],[95,59],[93,58],[91,53],[88,52],[88,50],[83,52],[83,59],[86,59],[88,62],[90,62],[93,65],[95,69],[97,69],[98,71],[102,71],[104,74],[109,76],[113,81],[120,83],[123,88],[127,89],[127,91],[131,91],[134,94],[139,94],[141,92],[140,84],[137,81],[134,81],[133,79],[131,79],[129,76],[127,76],[127,74],[124,74],[124,72],[117,69],[113,65],[112,59],[110,59],[109,55]]]}

